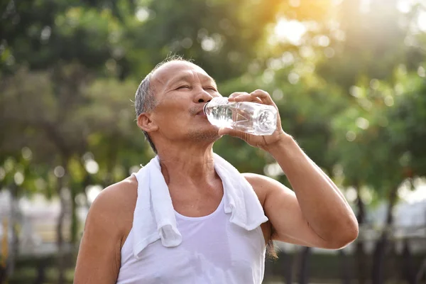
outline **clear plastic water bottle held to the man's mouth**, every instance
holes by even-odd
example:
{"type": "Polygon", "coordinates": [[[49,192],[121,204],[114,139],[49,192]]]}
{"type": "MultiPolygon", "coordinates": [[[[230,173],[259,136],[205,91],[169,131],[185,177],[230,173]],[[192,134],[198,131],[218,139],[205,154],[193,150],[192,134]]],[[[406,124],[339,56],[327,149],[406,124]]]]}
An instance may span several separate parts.
{"type": "Polygon", "coordinates": [[[277,128],[277,110],[256,102],[228,102],[227,97],[214,97],[204,105],[211,124],[250,133],[271,135],[277,128]]]}

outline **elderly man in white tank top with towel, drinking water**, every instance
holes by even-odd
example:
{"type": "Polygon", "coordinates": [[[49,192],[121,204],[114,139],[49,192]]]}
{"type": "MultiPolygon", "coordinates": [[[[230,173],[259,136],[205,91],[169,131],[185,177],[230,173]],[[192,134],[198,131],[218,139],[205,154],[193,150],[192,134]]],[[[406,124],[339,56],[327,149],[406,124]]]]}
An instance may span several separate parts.
{"type": "MultiPolygon", "coordinates": [[[[137,124],[158,155],[92,204],[75,283],[258,284],[272,240],[340,249],[356,239],[344,196],[279,117],[270,136],[218,129],[202,111],[218,96],[212,77],[185,60],[160,63],[141,82],[137,124]],[[225,134],[270,153],[293,191],[232,170],[212,151],[225,134]]],[[[236,92],[229,101],[276,108],[262,90],[236,92]]]]}

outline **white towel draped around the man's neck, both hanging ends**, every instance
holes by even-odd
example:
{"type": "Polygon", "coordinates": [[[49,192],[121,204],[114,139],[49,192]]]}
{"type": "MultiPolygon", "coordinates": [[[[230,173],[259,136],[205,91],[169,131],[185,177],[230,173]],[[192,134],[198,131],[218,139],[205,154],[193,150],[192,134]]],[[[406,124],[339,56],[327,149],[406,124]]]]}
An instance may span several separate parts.
{"type": "MultiPolygon", "coordinates": [[[[214,169],[224,185],[224,211],[231,214],[231,223],[250,231],[268,221],[250,183],[233,165],[214,154],[214,169]]],[[[138,258],[148,244],[158,239],[163,246],[178,246],[182,235],[176,226],[175,209],[158,156],[133,175],[138,180],[132,228],[134,256],[138,258]]]]}

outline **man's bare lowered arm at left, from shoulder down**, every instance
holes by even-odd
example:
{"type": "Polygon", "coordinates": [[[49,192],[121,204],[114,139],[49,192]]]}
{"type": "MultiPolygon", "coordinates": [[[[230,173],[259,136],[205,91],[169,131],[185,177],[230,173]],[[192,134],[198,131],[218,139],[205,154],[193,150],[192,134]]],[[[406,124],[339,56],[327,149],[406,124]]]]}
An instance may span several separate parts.
{"type": "Polygon", "coordinates": [[[123,238],[116,187],[102,190],[89,209],[77,256],[75,284],[116,283],[123,238]]]}

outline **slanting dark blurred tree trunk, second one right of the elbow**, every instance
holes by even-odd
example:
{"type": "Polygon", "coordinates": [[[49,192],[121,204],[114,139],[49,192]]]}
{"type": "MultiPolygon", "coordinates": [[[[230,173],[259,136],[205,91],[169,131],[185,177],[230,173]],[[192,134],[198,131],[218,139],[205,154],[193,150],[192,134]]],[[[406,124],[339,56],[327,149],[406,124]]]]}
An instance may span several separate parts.
{"type": "Polygon", "coordinates": [[[393,224],[393,207],[396,202],[398,187],[393,187],[389,195],[388,212],[386,216],[386,224],[381,234],[380,239],[376,241],[376,247],[373,253],[373,269],[371,273],[371,280],[374,284],[384,283],[384,269],[385,269],[385,255],[388,248],[388,230],[391,229],[393,224]]]}

